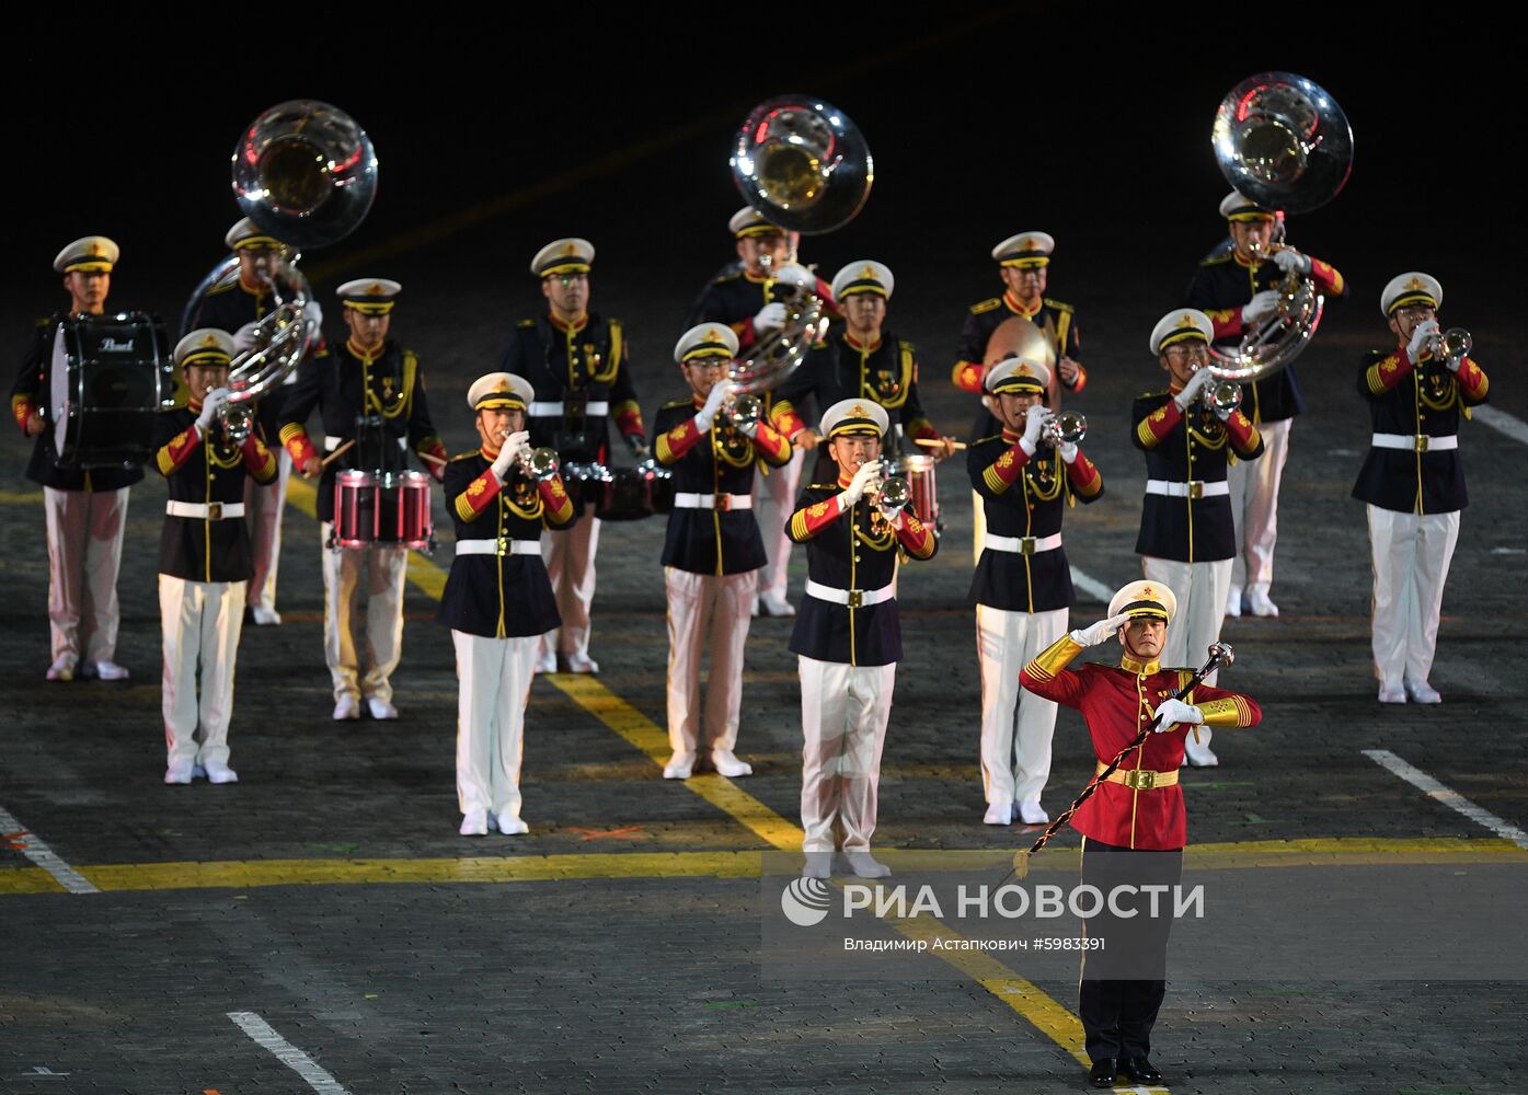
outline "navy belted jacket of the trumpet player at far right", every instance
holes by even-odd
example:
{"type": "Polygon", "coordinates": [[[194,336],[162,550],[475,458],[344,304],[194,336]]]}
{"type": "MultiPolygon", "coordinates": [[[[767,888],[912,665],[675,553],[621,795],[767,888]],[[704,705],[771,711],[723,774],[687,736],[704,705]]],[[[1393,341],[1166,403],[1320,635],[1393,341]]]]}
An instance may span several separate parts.
{"type": "MultiPolygon", "coordinates": [[[[1369,353],[1358,374],[1358,394],[1369,403],[1374,432],[1410,438],[1458,435],[1461,411],[1484,403],[1488,388],[1485,373],[1470,357],[1453,374],[1432,359],[1413,365],[1404,347],[1369,353]]],[[[1352,496],[1397,513],[1462,510],[1470,504],[1464,455],[1423,444],[1418,440],[1410,451],[1371,447],[1352,496]]]]}

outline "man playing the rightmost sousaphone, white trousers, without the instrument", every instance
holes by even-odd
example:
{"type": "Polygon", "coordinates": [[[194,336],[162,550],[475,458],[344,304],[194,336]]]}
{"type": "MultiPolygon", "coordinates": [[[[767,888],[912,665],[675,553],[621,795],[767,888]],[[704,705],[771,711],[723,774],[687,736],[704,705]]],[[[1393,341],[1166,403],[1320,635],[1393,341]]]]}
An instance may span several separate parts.
{"type": "MultiPolygon", "coordinates": [[[[1230,247],[1216,249],[1199,263],[1187,296],[1189,307],[1203,310],[1215,324],[1218,344],[1241,341],[1247,327],[1270,316],[1279,301],[1276,287],[1290,275],[1311,278],[1328,298],[1348,295],[1348,283],[1335,267],[1282,243],[1282,212],[1232,191],[1221,202],[1221,217],[1230,226],[1230,247]]],[[[1236,554],[1225,611],[1241,615],[1245,594],[1253,615],[1277,615],[1279,606],[1268,589],[1279,536],[1279,481],[1290,455],[1290,425],[1305,409],[1294,367],[1244,383],[1242,408],[1258,426],[1265,452],[1256,463],[1233,463],[1227,476],[1236,554]]]]}

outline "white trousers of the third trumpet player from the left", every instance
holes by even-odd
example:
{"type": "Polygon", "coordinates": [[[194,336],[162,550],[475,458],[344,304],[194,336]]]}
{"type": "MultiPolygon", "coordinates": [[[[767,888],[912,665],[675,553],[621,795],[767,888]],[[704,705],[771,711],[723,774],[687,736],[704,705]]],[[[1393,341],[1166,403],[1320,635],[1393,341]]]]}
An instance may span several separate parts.
{"type": "Polygon", "coordinates": [[[706,748],[730,751],[736,748],[743,715],[743,646],[749,638],[758,571],[717,576],[665,567],[663,585],[668,586],[669,602],[669,748],[695,756],[700,741],[700,658],[709,646],[706,748]]]}

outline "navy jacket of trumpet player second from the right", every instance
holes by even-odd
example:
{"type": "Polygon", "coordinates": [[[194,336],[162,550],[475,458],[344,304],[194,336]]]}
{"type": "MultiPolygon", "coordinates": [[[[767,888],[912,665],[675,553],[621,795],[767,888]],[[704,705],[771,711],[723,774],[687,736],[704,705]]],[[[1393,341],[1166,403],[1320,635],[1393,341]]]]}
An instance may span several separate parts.
{"type": "Polygon", "coordinates": [[[1224,423],[1198,403],[1180,412],[1175,394],[1169,388],[1137,396],[1131,409],[1131,443],[1146,454],[1146,478],[1190,484],[1183,496],[1146,495],[1135,551],[1177,562],[1235,559],[1230,495],[1195,496],[1192,484],[1225,483],[1230,457],[1261,457],[1262,437],[1241,411],[1224,423]]]}

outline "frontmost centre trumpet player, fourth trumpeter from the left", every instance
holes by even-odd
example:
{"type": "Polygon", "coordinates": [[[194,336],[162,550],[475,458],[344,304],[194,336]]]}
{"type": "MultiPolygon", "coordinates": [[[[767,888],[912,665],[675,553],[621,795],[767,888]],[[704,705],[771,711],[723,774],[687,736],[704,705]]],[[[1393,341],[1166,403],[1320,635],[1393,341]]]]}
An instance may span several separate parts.
{"type": "MultiPolygon", "coordinates": [[[[801,825],[805,874],[827,878],[834,846],[850,871],[880,878],[871,857],[880,751],[902,660],[894,579],[898,557],[932,559],[938,541],[885,489],[880,461],[891,420],[868,399],[822,415],[833,483],[801,492],[790,538],[807,545],[807,596],[790,649],[801,670],[801,825]]],[[[905,481],[898,481],[903,483],[905,481]]]]}

